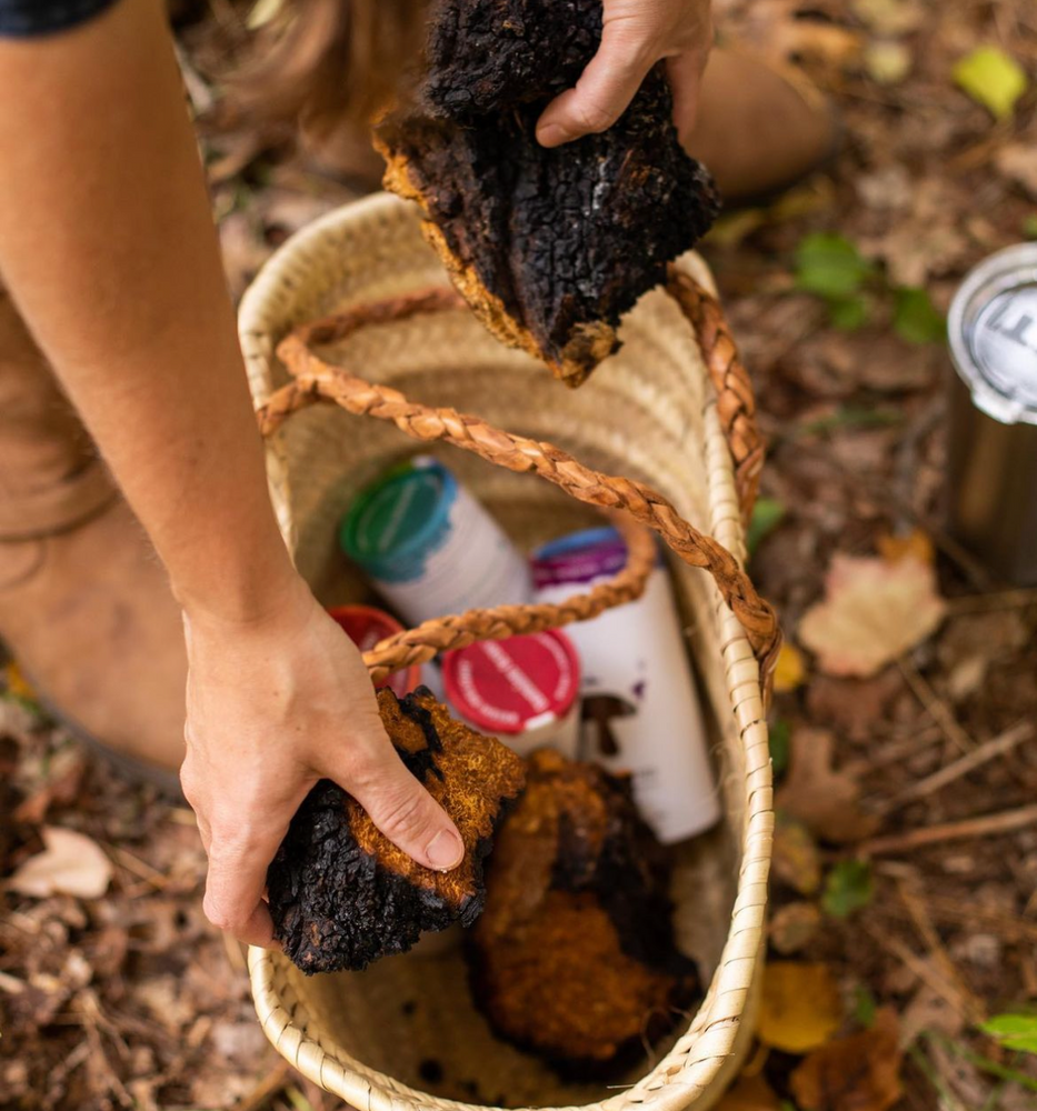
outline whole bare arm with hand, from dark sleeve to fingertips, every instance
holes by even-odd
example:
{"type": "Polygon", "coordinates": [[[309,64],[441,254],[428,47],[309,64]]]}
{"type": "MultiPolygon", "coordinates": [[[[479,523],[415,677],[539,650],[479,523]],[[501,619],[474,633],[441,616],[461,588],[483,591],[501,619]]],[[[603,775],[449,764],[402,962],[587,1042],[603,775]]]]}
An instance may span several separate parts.
{"type": "Polygon", "coordinates": [[[321,775],[420,862],[457,863],[456,830],[396,757],[359,654],[281,542],[159,0],[0,41],[0,274],[183,608],[182,779],[209,917],[270,940],[266,868],[321,775]]]}

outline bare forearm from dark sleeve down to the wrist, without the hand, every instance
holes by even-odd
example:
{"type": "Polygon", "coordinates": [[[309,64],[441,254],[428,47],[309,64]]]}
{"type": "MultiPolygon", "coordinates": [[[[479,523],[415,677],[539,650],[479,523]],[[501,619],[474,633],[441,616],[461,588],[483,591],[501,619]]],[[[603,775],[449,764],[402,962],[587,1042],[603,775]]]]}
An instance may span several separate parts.
{"type": "Polygon", "coordinates": [[[161,6],[0,42],[0,102],[4,281],[181,602],[260,615],[291,570],[161,6]]]}

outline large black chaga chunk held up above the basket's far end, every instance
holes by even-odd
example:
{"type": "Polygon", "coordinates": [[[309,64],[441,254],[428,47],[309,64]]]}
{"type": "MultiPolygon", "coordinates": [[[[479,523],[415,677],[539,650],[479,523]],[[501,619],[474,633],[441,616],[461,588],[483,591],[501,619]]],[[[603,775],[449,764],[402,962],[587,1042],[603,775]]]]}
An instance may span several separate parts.
{"type": "Polygon", "coordinates": [[[661,67],[607,131],[537,142],[540,112],[600,37],[600,0],[437,0],[415,104],[376,133],[387,187],[421,204],[475,312],[570,386],[718,210],[677,140],[661,67]]]}

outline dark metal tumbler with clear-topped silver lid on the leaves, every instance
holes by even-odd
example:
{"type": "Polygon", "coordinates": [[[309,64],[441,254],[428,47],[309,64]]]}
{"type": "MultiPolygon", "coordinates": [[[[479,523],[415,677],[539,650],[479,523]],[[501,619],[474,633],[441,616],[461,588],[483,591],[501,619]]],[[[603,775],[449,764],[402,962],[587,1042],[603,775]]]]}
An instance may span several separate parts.
{"type": "Polygon", "coordinates": [[[1037,584],[1037,243],[965,279],[947,321],[950,529],[991,571],[1037,584]]]}

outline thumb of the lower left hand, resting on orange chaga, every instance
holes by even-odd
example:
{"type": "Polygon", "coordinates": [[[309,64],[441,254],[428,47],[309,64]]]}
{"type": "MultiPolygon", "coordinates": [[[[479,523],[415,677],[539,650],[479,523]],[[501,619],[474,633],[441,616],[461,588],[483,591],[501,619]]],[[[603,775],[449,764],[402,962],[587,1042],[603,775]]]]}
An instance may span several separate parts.
{"type": "Polygon", "coordinates": [[[465,857],[457,827],[407,770],[383,731],[381,735],[383,740],[359,760],[352,757],[346,774],[337,775],[329,769],[331,778],[412,860],[441,872],[456,868],[465,857]]]}

